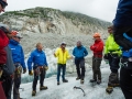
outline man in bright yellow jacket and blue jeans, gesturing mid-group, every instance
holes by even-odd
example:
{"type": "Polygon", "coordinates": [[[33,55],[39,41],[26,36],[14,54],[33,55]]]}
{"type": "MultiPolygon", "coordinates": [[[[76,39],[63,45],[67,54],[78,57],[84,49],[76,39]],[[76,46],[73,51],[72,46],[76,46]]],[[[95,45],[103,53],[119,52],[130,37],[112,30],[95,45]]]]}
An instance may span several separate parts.
{"type": "Polygon", "coordinates": [[[68,80],[65,79],[66,62],[68,58],[72,58],[72,56],[66,50],[65,42],[63,42],[61,44],[61,47],[56,50],[56,52],[54,53],[54,56],[57,57],[57,85],[59,85],[61,69],[63,69],[63,75],[62,75],[63,82],[68,82],[68,80]]]}

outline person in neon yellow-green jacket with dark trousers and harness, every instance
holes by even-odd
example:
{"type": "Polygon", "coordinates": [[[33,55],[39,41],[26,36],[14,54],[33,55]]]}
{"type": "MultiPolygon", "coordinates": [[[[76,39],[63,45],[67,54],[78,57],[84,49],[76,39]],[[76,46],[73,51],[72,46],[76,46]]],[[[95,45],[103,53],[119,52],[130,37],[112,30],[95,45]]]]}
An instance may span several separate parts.
{"type": "Polygon", "coordinates": [[[106,91],[108,94],[111,94],[113,90],[113,87],[119,86],[118,69],[119,69],[119,63],[120,63],[122,51],[120,50],[120,46],[114,42],[113,26],[109,26],[108,32],[110,33],[110,35],[106,41],[103,58],[107,59],[110,65],[111,74],[109,76],[108,88],[106,89],[106,91]]]}

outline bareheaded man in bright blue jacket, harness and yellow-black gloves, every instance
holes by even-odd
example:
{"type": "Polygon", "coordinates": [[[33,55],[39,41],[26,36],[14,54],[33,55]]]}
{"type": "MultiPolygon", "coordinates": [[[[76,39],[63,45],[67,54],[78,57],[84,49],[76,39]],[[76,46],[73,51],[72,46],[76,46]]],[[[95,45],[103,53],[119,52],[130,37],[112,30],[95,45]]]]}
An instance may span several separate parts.
{"type": "Polygon", "coordinates": [[[31,53],[28,59],[29,75],[33,75],[32,63],[33,63],[33,70],[34,70],[32,96],[35,96],[38,76],[40,76],[40,90],[47,89],[47,87],[44,86],[43,82],[44,82],[45,74],[46,74],[46,70],[48,69],[48,66],[47,66],[46,55],[43,52],[43,45],[41,43],[36,44],[36,50],[34,50],[31,53]]]}

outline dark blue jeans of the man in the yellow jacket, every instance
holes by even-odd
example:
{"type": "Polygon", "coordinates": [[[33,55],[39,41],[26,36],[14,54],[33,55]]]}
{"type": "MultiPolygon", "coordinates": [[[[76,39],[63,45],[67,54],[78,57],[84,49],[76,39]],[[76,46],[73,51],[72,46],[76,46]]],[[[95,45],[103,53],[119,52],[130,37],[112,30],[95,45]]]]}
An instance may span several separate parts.
{"type": "Polygon", "coordinates": [[[61,69],[63,69],[62,79],[65,80],[66,64],[57,64],[57,81],[59,81],[61,69]]]}

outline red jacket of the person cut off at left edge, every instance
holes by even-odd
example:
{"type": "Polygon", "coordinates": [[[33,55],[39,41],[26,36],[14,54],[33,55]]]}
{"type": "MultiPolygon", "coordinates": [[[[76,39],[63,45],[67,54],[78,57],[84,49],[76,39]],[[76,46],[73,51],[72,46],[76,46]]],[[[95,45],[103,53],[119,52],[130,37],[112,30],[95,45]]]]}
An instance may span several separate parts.
{"type": "Polygon", "coordinates": [[[0,30],[0,65],[7,63],[7,53],[4,47],[8,46],[9,38],[7,37],[6,33],[0,30]]]}

